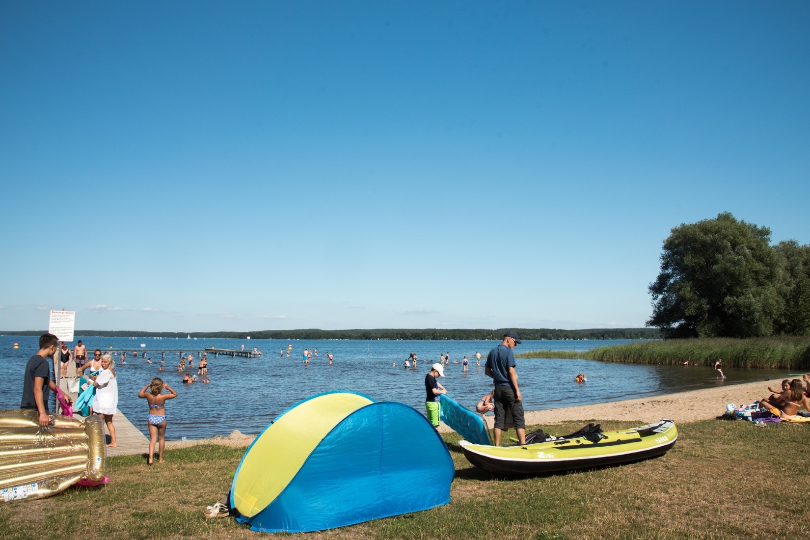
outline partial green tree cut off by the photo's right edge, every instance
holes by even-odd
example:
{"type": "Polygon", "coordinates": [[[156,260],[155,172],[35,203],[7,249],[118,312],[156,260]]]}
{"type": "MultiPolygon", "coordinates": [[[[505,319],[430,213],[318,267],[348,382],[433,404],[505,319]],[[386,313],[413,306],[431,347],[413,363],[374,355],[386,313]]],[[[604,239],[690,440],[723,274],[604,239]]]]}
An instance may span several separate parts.
{"type": "Polygon", "coordinates": [[[774,246],[782,261],[782,299],[785,307],[774,321],[774,332],[810,335],[810,245],[795,240],[774,246]]]}

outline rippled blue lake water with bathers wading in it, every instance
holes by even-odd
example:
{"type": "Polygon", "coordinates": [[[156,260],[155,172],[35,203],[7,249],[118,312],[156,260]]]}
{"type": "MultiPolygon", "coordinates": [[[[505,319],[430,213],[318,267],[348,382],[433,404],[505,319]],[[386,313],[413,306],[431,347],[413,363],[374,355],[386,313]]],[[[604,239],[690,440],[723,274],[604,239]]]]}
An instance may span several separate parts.
{"type": "MultiPolygon", "coordinates": [[[[19,407],[22,393],[23,369],[36,354],[37,337],[0,336],[0,368],[6,377],[0,380],[0,409],[19,407]],[[19,342],[19,349],[14,349],[19,342]]],[[[377,401],[393,400],[407,403],[424,413],[424,376],[430,364],[439,361],[441,353],[450,352],[450,359],[459,361],[463,355],[471,359],[470,370],[463,373],[461,364],[445,368],[445,386],[450,397],[471,409],[481,396],[492,389],[492,380],[484,375],[484,360],[496,341],[358,341],[280,339],[153,339],[153,338],[82,338],[87,350],[126,349],[139,351],[143,343],[147,350],[187,349],[206,347],[252,350],[258,347],[263,355],[257,359],[233,359],[229,356],[209,358],[208,375],[211,384],[183,385],[177,373],[179,356],[166,354],[164,372],[158,372],[160,353],[152,353],[154,364],[145,359],[126,355],[126,365],[116,359],[118,376],[118,408],[142,432],[147,432],[146,400],[138,392],[154,376],[160,376],[179,394],[168,402],[168,439],[228,435],[234,429],[243,433],[258,433],[276,415],[289,406],[315,393],[330,390],[354,390],[377,401]],[[279,351],[292,352],[279,358],[279,351]],[[304,349],[318,348],[318,358],[301,364],[304,349]],[[335,356],[329,365],[326,352],[335,356]],[[405,369],[408,353],[416,352],[419,367],[405,369]],[[475,351],[484,359],[475,366],[475,351]],[[428,360],[425,362],[424,360],[428,360]],[[394,362],[396,368],[392,367],[394,362]]],[[[630,340],[525,341],[516,351],[576,350],[626,343],[630,340]]],[[[72,351],[71,344],[71,351],[72,351]]],[[[194,355],[194,373],[198,359],[194,355]]],[[[774,370],[724,370],[727,381],[718,381],[710,368],[610,364],[583,359],[517,359],[518,381],[526,410],[552,409],[561,406],[586,405],[620,399],[640,398],[662,393],[733,385],[741,382],[764,381],[786,376],[774,370]],[[578,372],[588,377],[584,385],[573,381],[578,372]]],[[[72,366],[69,373],[72,373],[72,366]]],[[[765,387],[762,389],[765,395],[765,387]]],[[[53,408],[51,409],[53,410],[53,408]]],[[[723,411],[718,410],[718,415],[723,411]]]]}

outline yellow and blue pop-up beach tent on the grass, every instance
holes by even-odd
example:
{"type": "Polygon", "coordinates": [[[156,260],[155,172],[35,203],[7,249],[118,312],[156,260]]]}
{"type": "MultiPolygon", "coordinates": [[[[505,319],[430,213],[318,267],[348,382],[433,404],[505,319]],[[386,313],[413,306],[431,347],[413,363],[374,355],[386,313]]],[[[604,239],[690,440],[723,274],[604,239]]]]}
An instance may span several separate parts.
{"type": "Polygon", "coordinates": [[[454,474],[444,440],[412,407],[321,393],[256,437],[231,508],[266,533],[331,529],[447,504],[454,474]]]}

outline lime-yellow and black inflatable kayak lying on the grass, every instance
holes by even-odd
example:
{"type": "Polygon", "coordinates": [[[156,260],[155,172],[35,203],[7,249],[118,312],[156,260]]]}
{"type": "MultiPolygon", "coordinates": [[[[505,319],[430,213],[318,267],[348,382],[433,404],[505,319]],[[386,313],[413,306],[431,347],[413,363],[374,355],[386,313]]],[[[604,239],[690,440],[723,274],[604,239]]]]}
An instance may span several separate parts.
{"type": "Polygon", "coordinates": [[[675,445],[678,430],[671,420],[617,432],[590,431],[523,446],[490,446],[462,440],[473,465],[499,474],[541,474],[559,470],[616,465],[660,456],[675,445]]]}

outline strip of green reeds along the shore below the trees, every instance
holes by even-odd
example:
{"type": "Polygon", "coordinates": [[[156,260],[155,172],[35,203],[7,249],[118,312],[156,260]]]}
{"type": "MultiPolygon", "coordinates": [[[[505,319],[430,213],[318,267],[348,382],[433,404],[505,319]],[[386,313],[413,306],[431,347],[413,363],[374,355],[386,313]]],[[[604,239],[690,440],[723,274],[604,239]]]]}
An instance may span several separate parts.
{"type": "Polygon", "coordinates": [[[519,358],[582,358],[625,364],[689,364],[727,368],[810,369],[810,338],[665,339],[596,347],[590,351],[530,351],[519,358]]]}

